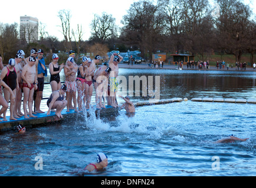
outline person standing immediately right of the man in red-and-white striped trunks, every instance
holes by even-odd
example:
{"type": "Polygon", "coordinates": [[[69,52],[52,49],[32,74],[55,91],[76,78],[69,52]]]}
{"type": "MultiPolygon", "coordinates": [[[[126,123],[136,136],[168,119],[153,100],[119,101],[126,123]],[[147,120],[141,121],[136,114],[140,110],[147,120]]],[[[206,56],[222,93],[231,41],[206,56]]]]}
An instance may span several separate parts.
{"type": "Polygon", "coordinates": [[[86,86],[86,61],[87,58],[83,58],[82,64],[78,67],[77,70],[77,104],[78,104],[78,110],[83,110],[83,96],[84,96],[84,90],[86,86]]]}

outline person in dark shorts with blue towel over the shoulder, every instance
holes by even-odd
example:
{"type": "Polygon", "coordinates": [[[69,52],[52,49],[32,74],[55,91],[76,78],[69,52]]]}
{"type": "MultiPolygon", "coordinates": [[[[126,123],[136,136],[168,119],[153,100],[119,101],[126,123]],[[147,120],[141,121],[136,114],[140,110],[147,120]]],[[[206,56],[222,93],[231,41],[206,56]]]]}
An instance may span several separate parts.
{"type": "Polygon", "coordinates": [[[44,113],[40,110],[41,100],[42,100],[42,91],[44,90],[44,76],[47,77],[47,68],[44,61],[44,51],[42,49],[38,50],[38,66],[37,66],[37,96],[35,98],[35,112],[44,113]]]}

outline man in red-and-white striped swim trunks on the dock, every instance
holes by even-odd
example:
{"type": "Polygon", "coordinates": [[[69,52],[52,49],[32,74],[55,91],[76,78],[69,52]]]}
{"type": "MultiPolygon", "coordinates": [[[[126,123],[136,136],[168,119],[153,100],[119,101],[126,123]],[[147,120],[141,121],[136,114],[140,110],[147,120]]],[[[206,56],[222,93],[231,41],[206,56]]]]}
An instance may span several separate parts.
{"type": "Polygon", "coordinates": [[[65,73],[65,85],[67,86],[66,100],[67,100],[67,112],[73,109],[72,99],[74,102],[74,110],[77,112],[77,85],[76,85],[76,73],[78,66],[74,63],[74,58],[68,58],[64,66],[65,73]]]}

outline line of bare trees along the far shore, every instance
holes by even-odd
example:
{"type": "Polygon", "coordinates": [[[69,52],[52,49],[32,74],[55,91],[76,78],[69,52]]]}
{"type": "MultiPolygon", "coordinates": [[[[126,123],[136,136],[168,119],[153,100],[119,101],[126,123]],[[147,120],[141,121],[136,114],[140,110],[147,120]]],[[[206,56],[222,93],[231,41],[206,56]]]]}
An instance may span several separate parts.
{"type": "Polygon", "coordinates": [[[148,59],[157,51],[190,53],[202,61],[213,53],[232,54],[237,62],[250,53],[253,62],[256,53],[255,14],[242,0],[215,0],[214,5],[208,0],[140,0],[130,5],[120,28],[112,15],[95,14],[88,41],[83,41],[82,25],[70,27],[71,16],[69,10],[58,12],[63,41],[47,35],[41,25],[38,42],[27,43],[19,38],[18,24],[0,24],[0,55],[8,59],[18,49],[29,54],[34,47],[101,56],[112,50],[139,50],[148,59]]]}

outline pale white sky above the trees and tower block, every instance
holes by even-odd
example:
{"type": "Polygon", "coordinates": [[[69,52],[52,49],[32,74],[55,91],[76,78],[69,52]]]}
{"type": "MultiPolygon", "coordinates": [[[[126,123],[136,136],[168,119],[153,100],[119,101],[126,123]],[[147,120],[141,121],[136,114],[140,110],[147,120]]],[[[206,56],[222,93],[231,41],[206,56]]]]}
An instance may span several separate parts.
{"type": "MultiPolygon", "coordinates": [[[[64,38],[60,32],[61,21],[58,18],[58,11],[67,9],[71,13],[71,28],[76,31],[77,24],[82,25],[84,31],[83,40],[88,40],[91,35],[90,24],[94,14],[101,15],[102,12],[106,12],[116,18],[117,26],[122,26],[120,22],[123,16],[128,14],[127,11],[130,5],[137,1],[139,0],[5,0],[4,6],[1,6],[0,22],[3,24],[17,22],[19,24],[20,16],[32,16],[38,18],[38,22],[45,25],[45,31],[50,36],[56,36],[62,41],[64,38]]],[[[256,0],[244,0],[244,2],[254,8],[254,13],[256,14],[256,0]]]]}

